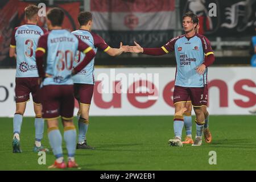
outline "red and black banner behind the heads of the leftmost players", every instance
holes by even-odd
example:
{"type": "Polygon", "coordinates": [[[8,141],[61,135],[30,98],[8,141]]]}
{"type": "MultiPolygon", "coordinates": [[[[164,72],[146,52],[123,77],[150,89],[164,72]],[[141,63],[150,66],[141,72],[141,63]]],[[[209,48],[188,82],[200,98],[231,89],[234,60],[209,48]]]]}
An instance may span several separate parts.
{"type": "MultiPolygon", "coordinates": [[[[24,8],[31,3],[21,2],[18,0],[1,0],[0,7],[0,65],[4,67],[13,67],[14,59],[9,57],[9,46],[11,41],[11,32],[15,27],[26,23],[24,17],[24,8]]],[[[37,4],[34,3],[37,6],[37,4]]],[[[80,12],[80,2],[56,4],[54,7],[60,7],[65,14],[63,28],[73,31],[79,28],[77,16],[80,12]]],[[[47,7],[46,11],[51,7],[47,7]]],[[[40,17],[39,26],[47,28],[46,17],[40,17]]]]}

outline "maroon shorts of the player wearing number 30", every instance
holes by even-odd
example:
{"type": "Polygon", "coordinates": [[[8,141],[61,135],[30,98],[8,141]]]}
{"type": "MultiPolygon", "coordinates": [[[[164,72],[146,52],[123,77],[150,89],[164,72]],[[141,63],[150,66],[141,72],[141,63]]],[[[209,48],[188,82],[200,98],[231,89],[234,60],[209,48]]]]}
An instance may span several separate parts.
{"type": "Polygon", "coordinates": [[[73,85],[46,85],[42,90],[43,118],[73,118],[75,101],[73,85]]]}

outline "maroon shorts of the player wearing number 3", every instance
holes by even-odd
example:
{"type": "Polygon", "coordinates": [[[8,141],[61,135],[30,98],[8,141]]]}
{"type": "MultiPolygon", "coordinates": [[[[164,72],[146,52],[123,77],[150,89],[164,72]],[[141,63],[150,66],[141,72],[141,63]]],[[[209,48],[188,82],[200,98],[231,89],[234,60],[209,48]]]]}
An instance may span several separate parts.
{"type": "Polygon", "coordinates": [[[32,94],[35,104],[40,104],[39,96],[40,86],[38,77],[16,77],[15,78],[15,102],[27,102],[32,94]]]}

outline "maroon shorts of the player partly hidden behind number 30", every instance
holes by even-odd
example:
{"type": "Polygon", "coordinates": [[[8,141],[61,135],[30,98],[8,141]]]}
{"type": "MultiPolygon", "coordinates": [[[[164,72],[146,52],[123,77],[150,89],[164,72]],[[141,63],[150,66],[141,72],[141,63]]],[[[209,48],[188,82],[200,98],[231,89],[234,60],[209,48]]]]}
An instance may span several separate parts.
{"type": "Polygon", "coordinates": [[[81,104],[90,105],[93,96],[92,84],[74,84],[74,95],[77,101],[81,104]]]}

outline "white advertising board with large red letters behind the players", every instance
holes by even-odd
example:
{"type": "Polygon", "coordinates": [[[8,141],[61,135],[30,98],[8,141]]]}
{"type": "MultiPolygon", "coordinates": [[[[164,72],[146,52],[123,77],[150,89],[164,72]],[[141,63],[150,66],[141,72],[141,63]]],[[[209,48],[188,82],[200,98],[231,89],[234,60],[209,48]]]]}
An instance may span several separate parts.
{"type": "MultiPolygon", "coordinates": [[[[0,117],[15,112],[15,69],[0,69],[0,117]]],[[[96,68],[90,115],[173,115],[175,68],[96,68]],[[139,81],[141,80],[141,81],[139,81]]],[[[256,107],[256,69],[210,67],[210,114],[249,114],[256,107]]],[[[30,97],[32,98],[32,97],[30,97]]],[[[74,115],[77,113],[77,102],[74,115]]],[[[193,112],[192,112],[193,113],[193,112]]],[[[34,116],[32,101],[25,116],[34,116]]]]}

